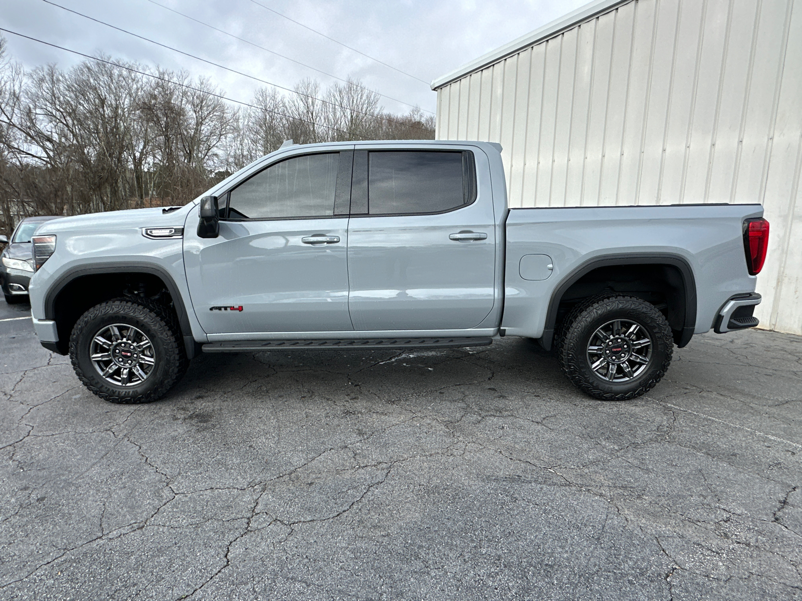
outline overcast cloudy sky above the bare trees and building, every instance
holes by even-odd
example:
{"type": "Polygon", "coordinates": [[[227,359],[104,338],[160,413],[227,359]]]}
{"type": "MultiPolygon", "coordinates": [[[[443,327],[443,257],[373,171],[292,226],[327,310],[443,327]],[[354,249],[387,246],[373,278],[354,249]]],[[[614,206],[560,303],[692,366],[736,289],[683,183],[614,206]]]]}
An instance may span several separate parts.
{"type": "MultiPolygon", "coordinates": [[[[158,2],[320,71],[343,79],[361,79],[363,85],[383,95],[434,111],[435,92],[428,85],[432,79],[575,10],[587,0],[257,0],[415,77],[348,50],[257,6],[253,0],[53,2],[279,86],[291,88],[307,77],[324,85],[336,81],[165,10],[154,3],[158,2]]],[[[248,101],[253,91],[264,85],[91,22],[43,0],[0,0],[0,27],[85,54],[103,52],[150,66],[204,75],[229,98],[248,101]]],[[[81,60],[63,50],[0,34],[8,41],[11,57],[26,67],[43,63],[69,67],[81,60]]],[[[381,102],[390,111],[409,109],[387,97],[381,102]]]]}

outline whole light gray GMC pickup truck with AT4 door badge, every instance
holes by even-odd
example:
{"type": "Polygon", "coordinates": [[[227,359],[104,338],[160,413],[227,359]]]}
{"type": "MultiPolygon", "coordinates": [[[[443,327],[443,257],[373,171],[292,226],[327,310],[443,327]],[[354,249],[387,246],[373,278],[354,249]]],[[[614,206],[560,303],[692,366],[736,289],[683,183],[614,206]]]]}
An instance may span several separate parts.
{"type": "Polygon", "coordinates": [[[120,403],[163,396],[200,352],[505,336],[621,400],[695,333],[758,324],[759,204],[508,208],[500,150],[286,144],[184,207],[49,221],[32,242],[34,329],[120,403]]]}

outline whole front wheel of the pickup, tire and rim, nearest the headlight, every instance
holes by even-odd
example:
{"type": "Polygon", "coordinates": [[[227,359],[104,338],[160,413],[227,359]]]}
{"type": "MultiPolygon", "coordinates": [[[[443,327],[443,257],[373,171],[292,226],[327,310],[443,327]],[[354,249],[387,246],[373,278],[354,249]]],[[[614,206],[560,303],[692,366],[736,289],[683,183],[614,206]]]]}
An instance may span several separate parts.
{"type": "Polygon", "coordinates": [[[89,309],[72,329],[70,358],[83,385],[112,403],[156,401],[188,364],[172,311],[145,299],[89,309]]]}

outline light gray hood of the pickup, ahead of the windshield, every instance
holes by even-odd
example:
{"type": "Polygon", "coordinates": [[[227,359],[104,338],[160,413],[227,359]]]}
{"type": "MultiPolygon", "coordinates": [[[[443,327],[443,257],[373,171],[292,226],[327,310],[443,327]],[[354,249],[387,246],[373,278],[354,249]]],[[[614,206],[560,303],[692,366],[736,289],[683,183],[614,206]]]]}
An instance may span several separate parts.
{"type": "Polygon", "coordinates": [[[59,217],[59,219],[42,224],[36,230],[36,234],[40,236],[59,232],[103,232],[103,230],[119,228],[181,227],[184,225],[187,213],[194,207],[195,204],[190,202],[184,207],[166,214],[160,207],[157,207],[59,217]]]}

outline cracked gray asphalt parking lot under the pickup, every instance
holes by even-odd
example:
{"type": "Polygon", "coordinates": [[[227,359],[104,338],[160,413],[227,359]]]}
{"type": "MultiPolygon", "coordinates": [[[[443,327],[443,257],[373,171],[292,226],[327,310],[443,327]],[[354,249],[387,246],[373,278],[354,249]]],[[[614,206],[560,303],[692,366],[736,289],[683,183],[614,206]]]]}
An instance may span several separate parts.
{"type": "Polygon", "coordinates": [[[0,599],[800,599],[802,337],[637,401],[529,341],[207,355],[88,393],[0,301],[0,599]]]}

